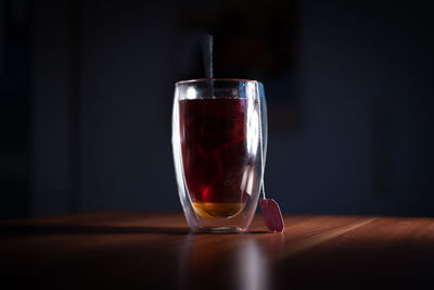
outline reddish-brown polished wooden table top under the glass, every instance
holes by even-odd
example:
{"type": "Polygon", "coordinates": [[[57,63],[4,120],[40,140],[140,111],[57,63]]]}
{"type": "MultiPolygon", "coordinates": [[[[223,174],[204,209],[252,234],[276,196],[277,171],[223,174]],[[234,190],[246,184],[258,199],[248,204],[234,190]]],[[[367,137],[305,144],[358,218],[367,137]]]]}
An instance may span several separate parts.
{"type": "Polygon", "coordinates": [[[0,222],[0,289],[434,289],[434,218],[285,216],[194,234],[182,214],[0,222]]]}

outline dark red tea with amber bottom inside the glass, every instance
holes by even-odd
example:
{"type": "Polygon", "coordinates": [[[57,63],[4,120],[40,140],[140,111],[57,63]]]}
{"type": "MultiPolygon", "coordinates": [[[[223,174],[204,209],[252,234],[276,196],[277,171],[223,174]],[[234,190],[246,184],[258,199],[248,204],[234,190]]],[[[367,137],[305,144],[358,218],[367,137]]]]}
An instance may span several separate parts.
{"type": "Polygon", "coordinates": [[[183,173],[200,216],[237,216],[252,188],[258,186],[257,178],[246,177],[246,168],[254,163],[245,143],[247,102],[242,98],[179,102],[183,173]]]}

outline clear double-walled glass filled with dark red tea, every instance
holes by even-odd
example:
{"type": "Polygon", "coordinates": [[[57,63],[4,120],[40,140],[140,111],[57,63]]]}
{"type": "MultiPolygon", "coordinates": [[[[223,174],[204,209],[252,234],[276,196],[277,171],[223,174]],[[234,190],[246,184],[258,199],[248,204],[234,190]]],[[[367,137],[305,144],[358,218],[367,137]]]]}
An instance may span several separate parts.
{"type": "Polygon", "coordinates": [[[258,203],[267,150],[263,85],[222,78],[176,83],[171,129],[178,191],[189,226],[245,230],[258,203]]]}

